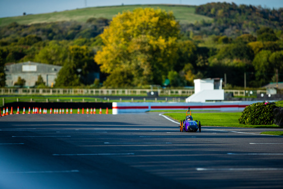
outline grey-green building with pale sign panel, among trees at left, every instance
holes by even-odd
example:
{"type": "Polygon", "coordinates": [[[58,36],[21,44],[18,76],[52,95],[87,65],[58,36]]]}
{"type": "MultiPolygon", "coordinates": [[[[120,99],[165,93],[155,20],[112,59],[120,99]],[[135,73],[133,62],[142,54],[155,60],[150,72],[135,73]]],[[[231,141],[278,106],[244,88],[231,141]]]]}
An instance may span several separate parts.
{"type": "Polygon", "coordinates": [[[62,66],[36,62],[8,63],[5,65],[6,86],[14,86],[18,77],[26,80],[25,86],[34,86],[38,75],[41,75],[46,86],[52,86],[62,66]]]}

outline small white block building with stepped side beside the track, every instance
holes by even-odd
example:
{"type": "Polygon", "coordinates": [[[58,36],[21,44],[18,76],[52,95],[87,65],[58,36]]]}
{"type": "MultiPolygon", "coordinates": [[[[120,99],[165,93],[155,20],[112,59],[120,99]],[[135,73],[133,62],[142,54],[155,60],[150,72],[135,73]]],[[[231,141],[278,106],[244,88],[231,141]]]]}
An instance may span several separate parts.
{"type": "Polygon", "coordinates": [[[195,79],[195,93],[186,99],[187,103],[223,101],[222,78],[195,79]]]}

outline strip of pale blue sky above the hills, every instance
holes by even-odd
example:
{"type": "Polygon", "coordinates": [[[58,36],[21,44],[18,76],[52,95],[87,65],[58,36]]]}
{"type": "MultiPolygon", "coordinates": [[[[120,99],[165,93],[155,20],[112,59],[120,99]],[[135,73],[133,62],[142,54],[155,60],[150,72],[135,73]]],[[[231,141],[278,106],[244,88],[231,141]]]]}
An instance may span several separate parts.
{"type": "Polygon", "coordinates": [[[60,12],[86,7],[119,6],[119,5],[153,5],[153,4],[174,4],[174,5],[203,5],[211,2],[246,4],[263,8],[283,8],[283,0],[234,0],[234,1],[209,1],[209,0],[0,0],[0,18],[22,16],[26,14],[41,14],[60,12]]]}

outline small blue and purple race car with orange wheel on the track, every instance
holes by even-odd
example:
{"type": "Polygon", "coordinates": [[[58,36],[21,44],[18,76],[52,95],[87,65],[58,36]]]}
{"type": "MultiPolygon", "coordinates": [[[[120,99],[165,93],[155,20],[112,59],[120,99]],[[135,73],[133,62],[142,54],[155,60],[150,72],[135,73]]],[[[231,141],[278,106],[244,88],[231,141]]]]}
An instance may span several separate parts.
{"type": "Polygon", "coordinates": [[[188,110],[186,111],[186,118],[180,122],[180,132],[186,131],[186,132],[201,132],[202,126],[201,121],[194,121],[192,117],[192,112],[190,110],[190,107],[188,107],[188,110]],[[187,113],[190,112],[190,113],[187,113]]]}

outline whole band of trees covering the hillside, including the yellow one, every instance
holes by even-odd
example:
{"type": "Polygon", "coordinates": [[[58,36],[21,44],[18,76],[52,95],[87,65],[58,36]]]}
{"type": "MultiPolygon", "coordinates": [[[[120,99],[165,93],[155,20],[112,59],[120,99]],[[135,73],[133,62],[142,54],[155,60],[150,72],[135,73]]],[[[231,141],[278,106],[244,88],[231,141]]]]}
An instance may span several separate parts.
{"type": "Polygon", "coordinates": [[[171,12],[146,8],[86,23],[12,23],[0,28],[0,85],[6,63],[25,61],[63,66],[56,87],[146,87],[166,79],[181,87],[224,74],[232,87],[244,85],[245,73],[247,86],[260,87],[276,81],[277,70],[282,81],[282,9],[212,3],[196,13],[214,20],[181,25],[171,12]],[[100,81],[90,83],[90,72],[100,72],[100,81]]]}

